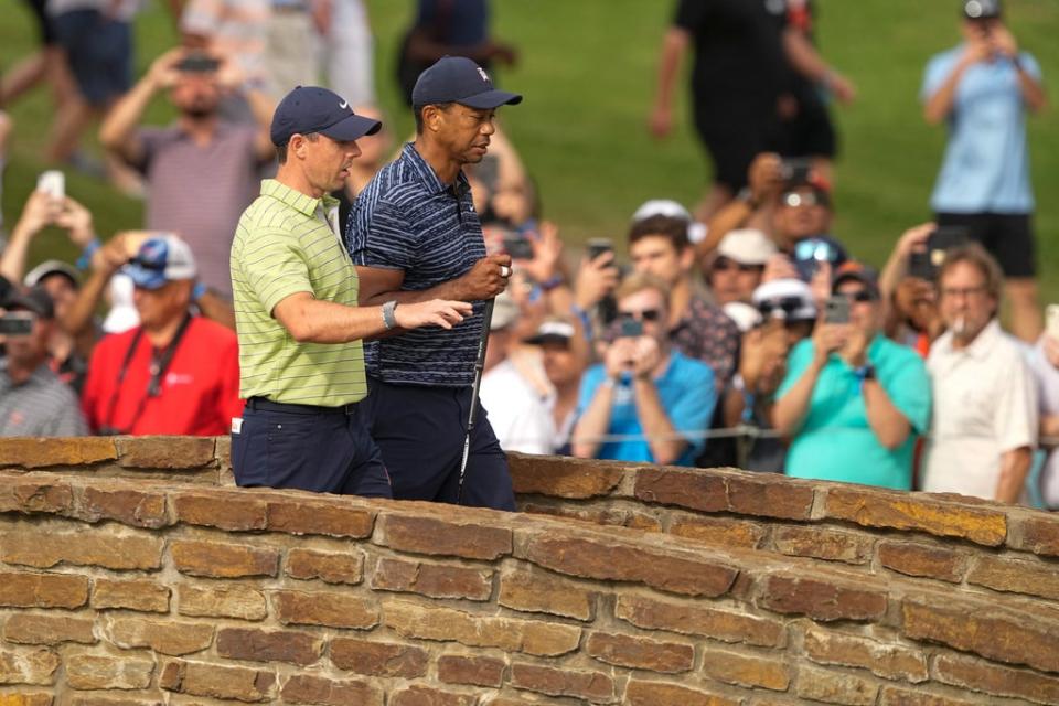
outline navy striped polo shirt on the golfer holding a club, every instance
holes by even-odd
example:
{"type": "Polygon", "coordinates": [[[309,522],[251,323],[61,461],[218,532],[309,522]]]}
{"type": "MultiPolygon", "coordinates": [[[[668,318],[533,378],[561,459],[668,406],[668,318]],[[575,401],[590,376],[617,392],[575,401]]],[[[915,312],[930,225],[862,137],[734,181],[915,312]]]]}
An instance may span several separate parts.
{"type": "MultiPolygon", "coordinates": [[[[406,291],[456,279],[485,257],[467,176],[443,184],[411,143],[357,196],[345,245],[354,265],[404,270],[406,291]]],[[[473,315],[449,331],[426,327],[364,343],[368,375],[397,385],[470,386],[484,306],[475,301],[473,315]]]]}

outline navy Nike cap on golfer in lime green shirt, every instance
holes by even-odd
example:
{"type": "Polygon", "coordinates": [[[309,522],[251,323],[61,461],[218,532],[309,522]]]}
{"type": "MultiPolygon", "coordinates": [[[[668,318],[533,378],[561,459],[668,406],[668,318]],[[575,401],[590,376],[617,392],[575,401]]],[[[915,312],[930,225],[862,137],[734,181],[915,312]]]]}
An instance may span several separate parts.
{"type": "Polygon", "coordinates": [[[293,135],[319,132],[345,142],[375,135],[383,124],[353,113],[339,94],[319,86],[298,86],[276,106],[272,145],[287,145],[293,135]]]}

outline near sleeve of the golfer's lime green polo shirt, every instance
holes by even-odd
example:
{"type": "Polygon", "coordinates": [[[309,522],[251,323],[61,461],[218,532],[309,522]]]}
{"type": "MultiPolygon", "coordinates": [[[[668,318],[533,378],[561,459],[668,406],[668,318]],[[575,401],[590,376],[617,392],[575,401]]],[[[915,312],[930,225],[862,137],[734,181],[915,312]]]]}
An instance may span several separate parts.
{"type": "Polygon", "coordinates": [[[298,292],[313,293],[309,264],[290,233],[265,231],[255,234],[254,249],[243,250],[243,276],[271,315],[280,301],[298,292]]]}

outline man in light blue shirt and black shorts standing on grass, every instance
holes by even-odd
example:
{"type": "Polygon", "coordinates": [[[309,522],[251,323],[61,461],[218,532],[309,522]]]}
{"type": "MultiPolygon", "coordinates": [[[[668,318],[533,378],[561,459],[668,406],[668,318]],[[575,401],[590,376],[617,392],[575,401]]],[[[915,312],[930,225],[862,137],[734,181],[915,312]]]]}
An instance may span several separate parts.
{"type": "Polygon", "coordinates": [[[931,58],[923,77],[924,116],[950,132],[931,207],[939,225],[967,228],[996,257],[1012,331],[1035,341],[1041,317],[1026,109],[1045,105],[1040,66],[1018,50],[999,0],[963,0],[963,18],[964,43],[931,58]]]}

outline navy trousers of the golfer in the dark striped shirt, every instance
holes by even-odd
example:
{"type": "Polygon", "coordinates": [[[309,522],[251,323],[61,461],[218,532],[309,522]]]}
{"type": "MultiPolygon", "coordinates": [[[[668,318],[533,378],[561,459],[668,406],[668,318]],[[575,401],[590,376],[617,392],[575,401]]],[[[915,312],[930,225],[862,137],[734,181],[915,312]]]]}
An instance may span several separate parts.
{"type": "MultiPolygon", "coordinates": [[[[470,387],[392,385],[368,378],[359,406],[397,500],[457,502],[470,387]]],[[[461,504],[514,511],[507,457],[479,404],[461,504]]]]}

